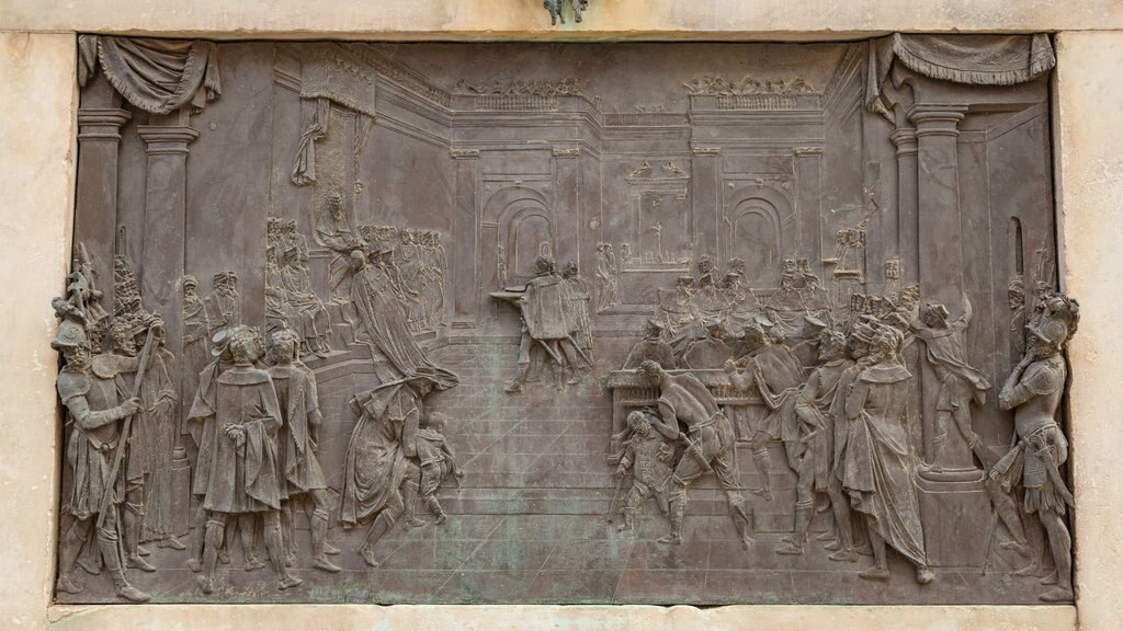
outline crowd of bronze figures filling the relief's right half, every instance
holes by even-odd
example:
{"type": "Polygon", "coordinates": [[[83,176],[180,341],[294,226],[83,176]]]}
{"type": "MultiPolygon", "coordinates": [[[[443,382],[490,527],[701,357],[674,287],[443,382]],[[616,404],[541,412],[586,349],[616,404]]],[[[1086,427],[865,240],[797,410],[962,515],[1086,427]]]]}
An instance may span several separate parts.
{"type": "MultiPolygon", "coordinates": [[[[860,243],[851,235],[846,240],[860,243]]],[[[841,235],[839,241],[842,249],[841,235]]],[[[1014,411],[1014,439],[1003,455],[992,452],[971,429],[973,404],[982,404],[994,388],[965,359],[973,314],[966,294],[962,314],[955,319],[947,305],[922,301],[916,285],[889,295],[855,293],[846,309],[838,309],[806,260],[786,259],[779,287],[758,302],[740,283],[743,267],[731,259],[722,280],[714,282],[714,262],[701,257],[697,275],[678,278],[628,355],[622,369],[634,371],[654,388],[657,403],[630,412],[618,437],[623,447],[615,456],[617,475],[631,482],[618,485],[610,519],[619,512],[619,528],[633,528],[645,500],[655,495],[670,522],[659,542],[682,543],[687,486],[713,473],[737,532],[749,546],[745,487],[732,451],[738,441],[748,443],[761,481],[751,492],[772,501],[768,443],[779,441],[796,494],[792,534],[776,554],[803,555],[814,513],[829,506],[832,530],[819,539],[828,541],[831,560],[871,556],[859,576],[886,580],[892,549],[915,567],[917,583],[930,583],[934,574],[914,484],[922,466],[919,384],[903,355],[919,344],[940,384],[931,424],[934,459],[966,459],[969,465],[977,459],[995,514],[1008,533],[999,546],[1024,557],[1023,569],[1032,567],[1026,521],[1040,522],[1053,565],[1043,579],[1052,587],[1040,597],[1070,600],[1066,514],[1072,496],[1060,468],[1068,446],[1057,412],[1067,374],[1062,349],[1076,332],[1077,302],[1039,282],[1034,312],[1012,331],[1012,344],[1022,354],[997,392],[999,408],[1014,411]],[[718,403],[699,378],[718,369],[737,391],[764,402],[768,413],[763,420],[747,421],[738,417],[740,409],[718,403]],[[628,491],[618,505],[621,487],[628,491]]],[[[898,273],[897,262],[886,266],[889,281],[898,273]]]]}

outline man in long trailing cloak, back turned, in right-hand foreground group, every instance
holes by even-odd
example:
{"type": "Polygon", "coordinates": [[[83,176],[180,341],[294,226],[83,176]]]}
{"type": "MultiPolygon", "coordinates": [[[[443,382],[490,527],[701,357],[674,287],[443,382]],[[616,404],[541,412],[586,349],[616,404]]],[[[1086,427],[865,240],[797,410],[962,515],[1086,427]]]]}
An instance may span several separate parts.
{"type": "Polygon", "coordinates": [[[874,566],[858,576],[888,579],[888,545],[916,567],[916,582],[925,585],[935,575],[928,567],[912,478],[916,456],[909,428],[914,383],[898,357],[902,341],[900,331],[880,327],[865,368],[847,395],[849,432],[842,486],[853,510],[866,515],[874,548],[874,566]]]}

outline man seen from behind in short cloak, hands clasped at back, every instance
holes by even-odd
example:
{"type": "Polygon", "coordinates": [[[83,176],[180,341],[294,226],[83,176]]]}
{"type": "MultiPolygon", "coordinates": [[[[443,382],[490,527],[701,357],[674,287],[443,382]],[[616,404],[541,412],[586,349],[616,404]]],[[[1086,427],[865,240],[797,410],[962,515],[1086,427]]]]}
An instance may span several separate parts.
{"type": "Polygon", "coordinates": [[[279,586],[295,587],[302,582],[285,567],[281,533],[275,447],[281,408],[270,374],[254,367],[262,355],[256,331],[247,328],[236,332],[230,339],[230,355],[234,365],[218,376],[213,408],[208,400],[197,397],[191,411],[191,418],[201,419],[210,430],[201,437],[194,481],[197,492],[202,492],[202,507],[208,511],[199,586],[204,594],[214,591],[214,569],[227,520],[261,514],[265,521],[265,549],[280,578],[279,586]]]}

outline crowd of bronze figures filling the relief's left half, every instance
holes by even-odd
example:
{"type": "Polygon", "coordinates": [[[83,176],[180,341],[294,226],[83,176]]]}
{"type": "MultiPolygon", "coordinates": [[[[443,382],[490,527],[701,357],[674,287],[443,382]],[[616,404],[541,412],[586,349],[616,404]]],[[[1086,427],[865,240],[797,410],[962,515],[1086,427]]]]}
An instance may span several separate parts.
{"type": "Polygon", "coordinates": [[[61,547],[60,592],[82,591],[77,567],[89,574],[104,568],[120,597],[147,601],[125,569],[155,571],[144,545],[185,550],[179,537],[189,531],[188,566],[200,574],[202,593],[214,591],[218,564],[230,563],[229,549],[239,542],[245,569],[263,568],[267,559],[285,589],[301,584],[293,569],[296,511],[308,514],[311,565],[326,573],[339,571],[329,558],[339,550],[327,540],[337,518],[344,528],[371,522],[358,549],[371,566],[377,566],[374,543],[399,518],[407,527],[424,523],[419,503],[445,521],[436,492],[464,474],[441,435],[447,419],[423,413],[422,399],[457,377],[414,341],[414,333],[442,323],[439,236],[381,226],[346,235],[337,229],[329,241],[346,262],[331,269],[336,300],[355,339],[386,362],[378,385],[351,402],[359,420],[341,510],[329,501],[317,455],[322,414],[316,376],[301,362],[331,353],[331,320],[312,290],[308,243],[295,221],[268,220],[264,327],[243,321],[234,272],[214,274],[202,296],[194,276],[181,280],[182,358],[164,348],[164,319],[143,307],[128,260],[113,262],[109,312],[84,248],[76,248],[67,298],[54,301],[62,322],[53,347],[65,360],[58,393],[69,412],[64,506],[72,518],[61,547]],[[198,452],[194,470],[184,440],[198,452]],[[198,505],[190,530],[188,487],[198,505]]]}

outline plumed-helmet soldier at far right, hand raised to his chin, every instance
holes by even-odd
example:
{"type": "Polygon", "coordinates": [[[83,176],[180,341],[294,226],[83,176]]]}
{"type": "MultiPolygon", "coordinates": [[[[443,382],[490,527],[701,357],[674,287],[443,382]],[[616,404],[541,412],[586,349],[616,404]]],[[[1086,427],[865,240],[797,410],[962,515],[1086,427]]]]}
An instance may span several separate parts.
{"type": "MultiPolygon", "coordinates": [[[[1056,414],[1067,377],[1061,348],[1072,337],[1078,320],[1077,302],[1054,295],[1047,301],[1043,317],[1026,327],[1030,335],[1025,357],[998,394],[998,406],[1014,410],[1017,442],[990,470],[987,485],[994,497],[1001,495],[995,493],[995,486],[1008,491],[1021,478],[1023,510],[1037,513],[1049,537],[1056,576],[1046,578],[1044,583],[1053,587],[1039,597],[1050,603],[1072,600],[1072,538],[1065,523],[1072,494],[1060,474],[1060,466],[1068,459],[1068,441],[1056,414]]],[[[995,503],[1003,518],[1002,503],[995,503]]],[[[1011,524],[1007,518],[1003,521],[1011,524]]],[[[1015,537],[1019,534],[1024,541],[1024,534],[1017,532],[1015,537]]]]}

